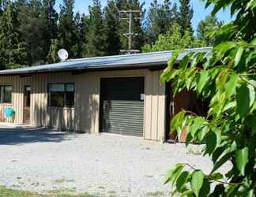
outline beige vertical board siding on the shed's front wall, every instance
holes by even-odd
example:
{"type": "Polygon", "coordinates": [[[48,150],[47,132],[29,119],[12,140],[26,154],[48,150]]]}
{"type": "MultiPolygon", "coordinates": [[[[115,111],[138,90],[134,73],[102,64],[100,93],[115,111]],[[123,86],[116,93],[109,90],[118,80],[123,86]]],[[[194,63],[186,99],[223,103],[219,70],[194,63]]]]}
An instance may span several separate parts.
{"type": "MultiPolygon", "coordinates": [[[[0,76],[0,84],[13,85],[14,122],[23,122],[24,85],[31,85],[31,125],[99,132],[100,125],[100,78],[145,76],[144,138],[164,139],[165,86],[159,83],[160,71],[126,70],[35,74],[27,77],[0,76]],[[47,106],[48,83],[75,83],[75,106],[73,109],[47,106]]],[[[1,106],[1,105],[0,105],[1,106]]]]}

